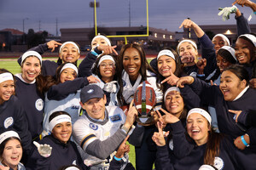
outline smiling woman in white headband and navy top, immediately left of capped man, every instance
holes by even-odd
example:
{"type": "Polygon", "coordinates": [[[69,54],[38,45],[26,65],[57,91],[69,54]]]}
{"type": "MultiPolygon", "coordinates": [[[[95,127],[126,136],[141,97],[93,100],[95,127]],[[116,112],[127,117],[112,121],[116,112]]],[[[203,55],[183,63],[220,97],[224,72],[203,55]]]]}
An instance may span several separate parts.
{"type": "Polygon", "coordinates": [[[49,116],[50,135],[38,141],[39,144],[49,144],[52,152],[49,157],[40,156],[37,147],[34,147],[27,163],[27,169],[59,169],[63,166],[77,165],[86,169],[79,150],[73,141],[71,116],[65,111],[55,111],[49,116]]]}

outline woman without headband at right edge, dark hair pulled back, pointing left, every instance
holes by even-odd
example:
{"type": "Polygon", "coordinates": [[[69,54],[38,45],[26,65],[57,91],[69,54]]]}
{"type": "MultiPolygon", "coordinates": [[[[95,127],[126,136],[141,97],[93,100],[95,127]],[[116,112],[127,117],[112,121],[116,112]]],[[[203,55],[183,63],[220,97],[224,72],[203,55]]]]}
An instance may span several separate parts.
{"type": "MultiPolygon", "coordinates": [[[[177,86],[183,87],[182,84],[190,84],[195,93],[201,96],[201,102],[204,105],[212,105],[216,109],[218,128],[220,133],[225,133],[232,139],[241,138],[245,133],[250,138],[250,144],[256,144],[253,139],[253,128],[247,129],[234,121],[235,111],[255,111],[256,91],[249,88],[249,75],[247,70],[241,65],[230,65],[226,68],[220,78],[220,85],[211,86],[193,77],[181,77],[177,81],[177,86]]],[[[244,158],[241,161],[242,169],[252,169],[250,165],[255,166],[253,159],[256,155],[253,149],[241,150],[244,158]]]]}

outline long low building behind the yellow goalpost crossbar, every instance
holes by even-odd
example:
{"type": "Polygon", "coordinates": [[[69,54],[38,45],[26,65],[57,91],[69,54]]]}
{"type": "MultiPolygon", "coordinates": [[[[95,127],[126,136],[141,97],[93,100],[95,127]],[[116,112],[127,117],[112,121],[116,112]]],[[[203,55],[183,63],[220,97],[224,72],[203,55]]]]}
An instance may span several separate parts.
{"type": "MultiPolygon", "coordinates": [[[[177,42],[175,40],[175,32],[157,29],[153,27],[148,28],[148,37],[127,37],[127,42],[135,42],[143,45],[145,48],[152,50],[160,50],[164,47],[175,47],[177,42]]],[[[132,27],[103,27],[98,29],[99,33],[107,36],[121,36],[121,35],[145,35],[147,34],[147,27],[132,26],[132,27]]],[[[93,28],[62,28],[61,42],[73,41],[78,42],[80,47],[90,45],[91,39],[95,36],[93,28]]],[[[110,38],[113,45],[118,48],[125,44],[124,37],[110,38]]]]}

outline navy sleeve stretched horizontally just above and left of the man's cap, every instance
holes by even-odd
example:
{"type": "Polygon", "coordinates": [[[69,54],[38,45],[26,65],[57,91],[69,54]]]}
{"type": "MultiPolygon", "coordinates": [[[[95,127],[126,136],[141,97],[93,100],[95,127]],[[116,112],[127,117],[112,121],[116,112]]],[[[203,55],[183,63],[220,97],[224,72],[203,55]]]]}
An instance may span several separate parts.
{"type": "Polygon", "coordinates": [[[88,84],[89,82],[87,78],[84,77],[76,78],[73,81],[59,83],[49,88],[47,98],[55,100],[65,99],[69,94],[76,93],[80,88],[84,88],[84,86],[88,84]]]}

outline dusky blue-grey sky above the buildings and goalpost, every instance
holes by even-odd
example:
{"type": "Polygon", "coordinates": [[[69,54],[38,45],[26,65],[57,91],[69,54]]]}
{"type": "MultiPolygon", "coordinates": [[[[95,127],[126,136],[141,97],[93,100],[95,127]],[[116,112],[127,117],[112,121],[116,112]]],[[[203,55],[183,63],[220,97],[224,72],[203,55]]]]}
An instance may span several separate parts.
{"type": "MultiPolygon", "coordinates": [[[[93,8],[86,0],[0,0],[0,30],[15,28],[25,32],[48,31],[56,34],[61,28],[93,27],[93,8]],[[26,20],[27,18],[27,20],[26,20]],[[39,21],[40,20],[40,21],[39,21]]],[[[131,4],[131,26],[146,26],[146,0],[97,0],[97,26],[129,26],[129,2],[131,4]]],[[[224,0],[148,0],[149,26],[167,29],[168,31],[183,31],[178,26],[186,18],[198,25],[233,25],[236,24],[235,14],[230,20],[223,21],[218,16],[219,7],[231,6],[234,1],[224,0]]],[[[248,7],[236,5],[246,18],[252,13],[248,7]]],[[[256,24],[256,16],[249,22],[256,24]]]]}

